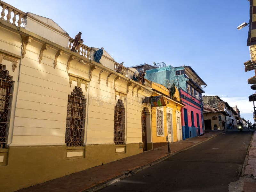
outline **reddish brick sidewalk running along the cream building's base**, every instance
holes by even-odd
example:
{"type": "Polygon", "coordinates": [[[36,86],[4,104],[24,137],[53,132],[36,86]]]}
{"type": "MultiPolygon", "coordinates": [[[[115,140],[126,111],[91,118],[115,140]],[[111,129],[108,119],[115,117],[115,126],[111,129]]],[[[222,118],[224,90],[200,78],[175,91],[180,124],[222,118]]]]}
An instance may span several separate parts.
{"type": "MultiPolygon", "coordinates": [[[[202,137],[191,138],[171,143],[171,154],[173,155],[181,150],[195,146],[204,142],[222,132],[205,133],[202,137]]],[[[140,170],[152,166],[164,160],[163,157],[170,156],[167,146],[146,151],[138,155],[126,157],[105,165],[93,167],[81,172],[73,173],[64,177],[50,180],[29,188],[19,190],[19,192],[81,192],[94,186],[103,184],[116,177],[125,177],[129,171],[141,168],[140,170]],[[158,160],[158,161],[157,161],[158,160]],[[144,167],[142,167],[144,166],[144,167]]],[[[136,170],[134,171],[136,172],[136,170]]],[[[50,173],[49,173],[50,174],[50,173]]],[[[119,178],[120,180],[120,178],[119,178]]],[[[111,181],[110,181],[111,182],[111,181]]]]}

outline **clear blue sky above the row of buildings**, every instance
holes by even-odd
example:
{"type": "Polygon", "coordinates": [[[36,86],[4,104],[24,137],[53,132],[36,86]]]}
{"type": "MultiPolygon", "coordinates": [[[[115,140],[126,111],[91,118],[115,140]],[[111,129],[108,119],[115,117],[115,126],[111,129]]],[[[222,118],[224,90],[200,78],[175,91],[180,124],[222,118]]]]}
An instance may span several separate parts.
{"type": "Polygon", "coordinates": [[[6,2],[54,20],[73,38],[81,31],[84,44],[104,47],[126,67],[153,61],[191,66],[208,85],[206,95],[225,96],[252,121],[248,96],[254,91],[247,79],[254,71],[244,72],[248,27],[236,29],[249,22],[247,0],[6,2]]]}

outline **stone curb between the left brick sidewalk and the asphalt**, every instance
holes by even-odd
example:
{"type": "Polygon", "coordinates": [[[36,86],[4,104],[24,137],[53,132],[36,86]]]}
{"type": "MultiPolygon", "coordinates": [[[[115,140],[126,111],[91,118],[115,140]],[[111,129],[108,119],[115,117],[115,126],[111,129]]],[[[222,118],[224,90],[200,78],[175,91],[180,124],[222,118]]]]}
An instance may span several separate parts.
{"type": "Polygon", "coordinates": [[[147,168],[149,168],[149,167],[151,167],[151,166],[154,166],[154,165],[156,165],[156,164],[159,164],[159,163],[163,162],[164,160],[168,159],[169,157],[171,157],[171,156],[173,156],[173,155],[176,155],[176,154],[178,154],[178,153],[180,153],[180,152],[182,152],[182,151],[188,150],[189,148],[195,147],[195,146],[197,146],[197,145],[199,145],[199,144],[201,144],[201,143],[203,143],[203,142],[205,142],[205,141],[208,141],[208,140],[210,140],[210,139],[212,139],[212,138],[214,138],[214,137],[220,135],[220,134],[223,133],[223,132],[227,132],[227,130],[222,131],[222,132],[220,132],[220,133],[217,133],[217,134],[215,134],[215,135],[213,135],[213,136],[211,136],[211,137],[208,137],[206,140],[200,141],[200,142],[196,143],[195,145],[192,145],[192,146],[189,146],[189,147],[187,147],[187,148],[184,148],[184,149],[181,149],[181,150],[179,150],[179,151],[176,151],[175,153],[172,153],[172,152],[171,152],[170,154],[168,154],[168,155],[166,155],[166,156],[164,156],[164,157],[162,157],[162,158],[159,158],[159,159],[157,159],[156,161],[153,161],[153,162],[151,162],[151,163],[148,163],[148,164],[146,164],[146,165],[143,165],[143,166],[141,166],[141,167],[139,167],[139,168],[136,168],[136,169],[134,169],[134,170],[131,170],[131,171],[124,171],[124,174],[119,175],[119,176],[117,176],[117,177],[115,177],[115,178],[113,178],[113,179],[107,180],[107,181],[105,181],[105,182],[103,182],[103,183],[100,183],[100,184],[98,184],[98,185],[96,185],[96,186],[93,186],[93,187],[91,187],[91,188],[89,188],[89,189],[86,189],[86,190],[84,190],[84,191],[82,191],[82,192],[96,192],[96,191],[99,191],[99,190],[101,190],[101,189],[103,189],[103,188],[108,187],[109,185],[112,185],[112,184],[114,184],[114,183],[116,183],[116,182],[118,182],[118,181],[120,181],[120,180],[125,179],[126,177],[130,177],[130,176],[132,176],[133,174],[136,174],[136,173],[138,173],[138,172],[140,172],[140,171],[142,171],[142,170],[145,170],[145,169],[147,169],[147,168]]]}

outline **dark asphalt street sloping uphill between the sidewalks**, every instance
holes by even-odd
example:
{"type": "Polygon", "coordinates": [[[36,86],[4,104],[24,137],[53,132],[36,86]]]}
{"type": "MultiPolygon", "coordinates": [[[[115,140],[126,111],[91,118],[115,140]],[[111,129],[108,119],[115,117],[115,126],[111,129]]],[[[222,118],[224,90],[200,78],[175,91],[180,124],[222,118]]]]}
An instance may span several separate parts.
{"type": "Polygon", "coordinates": [[[101,192],[227,192],[239,178],[252,133],[224,132],[101,192]]]}

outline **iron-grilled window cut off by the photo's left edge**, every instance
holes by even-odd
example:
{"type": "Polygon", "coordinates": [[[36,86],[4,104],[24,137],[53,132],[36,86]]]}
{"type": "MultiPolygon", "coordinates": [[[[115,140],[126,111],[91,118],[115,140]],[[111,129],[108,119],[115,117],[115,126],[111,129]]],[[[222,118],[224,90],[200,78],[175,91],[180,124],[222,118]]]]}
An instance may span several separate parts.
{"type": "Polygon", "coordinates": [[[0,65],[0,149],[7,148],[10,113],[12,106],[12,76],[0,65]]]}

